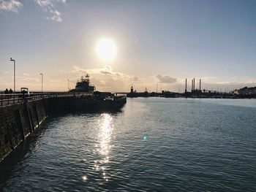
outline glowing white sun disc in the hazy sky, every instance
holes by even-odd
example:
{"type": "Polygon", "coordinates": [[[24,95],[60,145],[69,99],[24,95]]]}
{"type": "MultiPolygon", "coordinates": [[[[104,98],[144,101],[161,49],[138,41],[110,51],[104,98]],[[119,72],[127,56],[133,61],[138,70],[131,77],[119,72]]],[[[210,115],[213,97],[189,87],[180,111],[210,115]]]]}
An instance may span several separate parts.
{"type": "Polygon", "coordinates": [[[97,42],[95,51],[101,61],[110,62],[116,58],[116,44],[112,39],[103,38],[97,42]]]}

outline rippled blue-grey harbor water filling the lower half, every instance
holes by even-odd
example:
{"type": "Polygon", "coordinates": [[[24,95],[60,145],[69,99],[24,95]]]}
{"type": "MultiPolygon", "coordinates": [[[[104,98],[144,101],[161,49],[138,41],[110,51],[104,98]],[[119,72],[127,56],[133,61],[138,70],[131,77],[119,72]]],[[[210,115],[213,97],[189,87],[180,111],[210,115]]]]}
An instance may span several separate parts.
{"type": "Polygon", "coordinates": [[[0,191],[256,191],[256,100],[50,117],[0,164],[0,191]]]}

